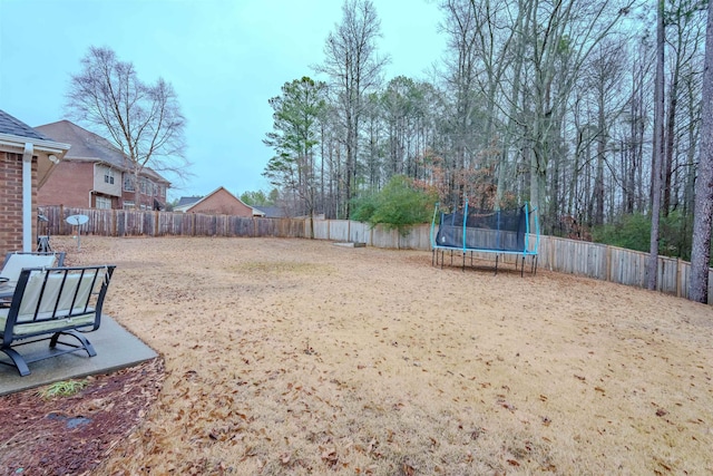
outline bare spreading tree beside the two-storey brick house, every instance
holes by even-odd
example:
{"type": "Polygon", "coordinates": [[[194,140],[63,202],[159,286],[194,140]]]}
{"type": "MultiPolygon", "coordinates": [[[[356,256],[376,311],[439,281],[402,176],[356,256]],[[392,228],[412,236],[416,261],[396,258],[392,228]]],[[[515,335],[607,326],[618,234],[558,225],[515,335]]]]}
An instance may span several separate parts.
{"type": "Polygon", "coordinates": [[[139,177],[145,167],[187,176],[186,120],[173,86],[163,78],[153,85],[141,81],[134,65],[119,61],[109,48],[90,47],[81,65],[81,72],[71,77],[67,111],[111,140],[128,158],[135,206],[139,206],[139,177]]]}

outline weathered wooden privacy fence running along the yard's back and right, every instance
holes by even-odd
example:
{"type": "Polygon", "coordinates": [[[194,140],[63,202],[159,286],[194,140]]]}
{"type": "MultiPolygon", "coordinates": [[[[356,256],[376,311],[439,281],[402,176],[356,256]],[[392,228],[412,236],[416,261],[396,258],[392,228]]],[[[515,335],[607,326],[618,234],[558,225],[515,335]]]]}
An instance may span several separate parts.
{"type": "MultiPolygon", "coordinates": [[[[43,207],[52,235],[77,234],[68,224],[69,215],[87,215],[79,226],[81,234],[102,236],[238,236],[238,237],[310,237],[318,240],[365,243],[374,247],[430,250],[430,225],[414,226],[401,236],[395,230],[370,227],[349,220],[262,218],[198,213],[148,212],[133,210],[88,210],[62,206],[43,207]]],[[[534,237],[531,237],[534,239],[534,237]]],[[[492,253],[473,253],[477,259],[492,260],[492,253]]],[[[614,283],[646,286],[648,254],[599,243],[540,236],[538,266],[560,273],[578,274],[614,283]]],[[[504,263],[519,256],[501,255],[504,263]]],[[[657,290],[681,298],[688,297],[691,263],[658,256],[657,290]]],[[[709,303],[713,304],[713,269],[709,270],[709,303]]]]}

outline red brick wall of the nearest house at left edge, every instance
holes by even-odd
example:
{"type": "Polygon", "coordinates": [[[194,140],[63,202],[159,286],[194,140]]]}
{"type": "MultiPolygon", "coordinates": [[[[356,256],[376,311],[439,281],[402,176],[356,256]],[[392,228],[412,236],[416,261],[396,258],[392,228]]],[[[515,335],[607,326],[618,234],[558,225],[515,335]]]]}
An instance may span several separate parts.
{"type": "MultiPolygon", "coordinates": [[[[0,152],[0,256],[22,250],[22,155],[0,152]]],[[[37,157],[32,157],[32,203],[37,203],[37,157]]],[[[32,210],[32,236],[37,210],[32,210]]]]}

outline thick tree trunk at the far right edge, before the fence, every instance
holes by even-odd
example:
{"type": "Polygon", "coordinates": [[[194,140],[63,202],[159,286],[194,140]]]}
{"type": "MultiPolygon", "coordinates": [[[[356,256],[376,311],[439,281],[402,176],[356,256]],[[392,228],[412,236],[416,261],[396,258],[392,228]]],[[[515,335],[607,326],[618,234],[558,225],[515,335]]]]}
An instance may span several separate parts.
{"type": "Polygon", "coordinates": [[[709,2],[701,124],[701,159],[695,184],[691,284],[688,299],[707,302],[711,229],[713,226],[713,2],[709,2]]]}

